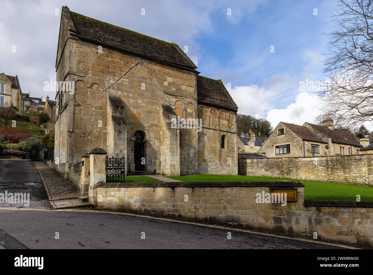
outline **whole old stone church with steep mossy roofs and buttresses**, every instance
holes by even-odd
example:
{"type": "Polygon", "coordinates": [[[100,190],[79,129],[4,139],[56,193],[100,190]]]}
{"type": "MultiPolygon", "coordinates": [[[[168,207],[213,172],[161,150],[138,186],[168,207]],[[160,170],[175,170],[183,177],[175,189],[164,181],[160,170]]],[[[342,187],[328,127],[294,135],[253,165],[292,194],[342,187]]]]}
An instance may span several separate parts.
{"type": "Polygon", "coordinates": [[[238,107],[175,43],[63,7],[56,72],[61,173],[95,147],[124,157],[126,171],[238,173],[238,107]],[[173,127],[178,118],[202,125],[173,127]]]}

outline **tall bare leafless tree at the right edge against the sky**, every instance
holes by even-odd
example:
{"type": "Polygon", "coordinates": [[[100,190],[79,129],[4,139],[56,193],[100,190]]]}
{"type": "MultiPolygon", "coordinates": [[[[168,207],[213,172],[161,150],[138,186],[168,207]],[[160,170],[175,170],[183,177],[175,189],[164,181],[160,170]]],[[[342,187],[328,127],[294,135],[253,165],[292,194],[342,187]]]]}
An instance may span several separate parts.
{"type": "Polygon", "coordinates": [[[344,128],[373,121],[373,0],[338,0],[330,17],[323,111],[344,128]]]}

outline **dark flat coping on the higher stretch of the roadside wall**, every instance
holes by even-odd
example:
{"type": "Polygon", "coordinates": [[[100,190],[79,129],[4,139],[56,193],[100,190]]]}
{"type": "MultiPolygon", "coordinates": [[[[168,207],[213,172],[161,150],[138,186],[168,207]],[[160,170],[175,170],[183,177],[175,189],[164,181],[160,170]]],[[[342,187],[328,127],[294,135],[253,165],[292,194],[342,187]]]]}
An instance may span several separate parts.
{"type": "Polygon", "coordinates": [[[99,183],[97,187],[304,187],[299,181],[99,183]]]}

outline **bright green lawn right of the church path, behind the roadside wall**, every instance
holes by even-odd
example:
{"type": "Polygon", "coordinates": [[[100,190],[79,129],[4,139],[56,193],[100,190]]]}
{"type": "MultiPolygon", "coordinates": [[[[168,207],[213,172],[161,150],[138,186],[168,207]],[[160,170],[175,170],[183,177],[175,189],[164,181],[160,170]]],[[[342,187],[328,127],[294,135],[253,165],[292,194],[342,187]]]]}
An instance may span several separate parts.
{"type": "Polygon", "coordinates": [[[189,175],[168,177],[185,182],[229,182],[229,181],[301,181],[304,184],[305,200],[352,200],[360,195],[361,201],[373,201],[373,187],[354,184],[332,183],[312,180],[294,180],[291,178],[249,177],[230,175],[189,175]]]}

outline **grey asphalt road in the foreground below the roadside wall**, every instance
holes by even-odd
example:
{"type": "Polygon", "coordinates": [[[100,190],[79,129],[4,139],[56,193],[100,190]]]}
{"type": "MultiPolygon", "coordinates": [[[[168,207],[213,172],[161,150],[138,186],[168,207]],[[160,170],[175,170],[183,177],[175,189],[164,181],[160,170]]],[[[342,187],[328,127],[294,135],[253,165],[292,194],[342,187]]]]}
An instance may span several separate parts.
{"type": "Polygon", "coordinates": [[[100,212],[0,208],[7,249],[335,249],[288,238],[100,212]],[[56,232],[59,239],[56,239],[56,232]],[[232,238],[227,238],[231,232],[232,238]],[[142,239],[145,234],[145,239],[142,239]]]}

